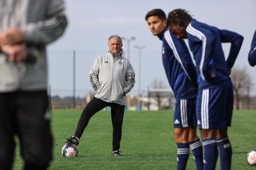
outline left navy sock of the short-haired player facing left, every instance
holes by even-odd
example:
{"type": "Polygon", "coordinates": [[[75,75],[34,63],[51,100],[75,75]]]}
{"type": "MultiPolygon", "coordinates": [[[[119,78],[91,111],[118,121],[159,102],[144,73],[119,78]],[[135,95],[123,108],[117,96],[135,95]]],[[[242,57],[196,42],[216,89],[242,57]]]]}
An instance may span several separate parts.
{"type": "Polygon", "coordinates": [[[177,147],[177,170],[184,170],[189,156],[189,144],[177,143],[177,147]]]}

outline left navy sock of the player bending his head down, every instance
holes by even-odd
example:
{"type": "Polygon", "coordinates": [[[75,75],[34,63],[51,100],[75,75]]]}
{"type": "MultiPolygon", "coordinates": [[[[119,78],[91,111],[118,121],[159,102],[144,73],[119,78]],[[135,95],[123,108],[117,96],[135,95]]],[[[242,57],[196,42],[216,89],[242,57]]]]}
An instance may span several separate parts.
{"type": "Polygon", "coordinates": [[[207,139],[203,141],[204,145],[204,169],[214,170],[217,159],[218,149],[216,139],[207,139]]]}

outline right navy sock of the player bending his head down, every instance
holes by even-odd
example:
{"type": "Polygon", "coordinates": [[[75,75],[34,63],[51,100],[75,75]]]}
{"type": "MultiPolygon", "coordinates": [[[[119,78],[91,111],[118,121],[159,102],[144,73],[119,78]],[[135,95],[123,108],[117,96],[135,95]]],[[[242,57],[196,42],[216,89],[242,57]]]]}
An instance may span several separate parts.
{"type": "Polygon", "coordinates": [[[218,140],[217,144],[220,152],[220,169],[231,169],[232,148],[228,137],[218,140]]]}

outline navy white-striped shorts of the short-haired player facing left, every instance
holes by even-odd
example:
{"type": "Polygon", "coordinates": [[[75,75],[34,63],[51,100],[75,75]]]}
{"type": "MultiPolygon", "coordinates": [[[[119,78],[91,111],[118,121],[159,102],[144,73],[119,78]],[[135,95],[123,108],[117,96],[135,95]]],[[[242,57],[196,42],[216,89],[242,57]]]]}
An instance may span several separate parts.
{"type": "Polygon", "coordinates": [[[174,128],[196,125],[196,98],[179,99],[175,103],[174,128]]]}

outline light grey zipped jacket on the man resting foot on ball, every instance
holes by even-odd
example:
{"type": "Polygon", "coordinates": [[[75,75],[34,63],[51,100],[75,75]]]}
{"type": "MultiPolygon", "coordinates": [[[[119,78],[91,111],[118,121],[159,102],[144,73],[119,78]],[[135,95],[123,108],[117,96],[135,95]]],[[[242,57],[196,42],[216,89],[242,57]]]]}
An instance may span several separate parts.
{"type": "Polygon", "coordinates": [[[135,83],[135,73],[129,60],[122,54],[122,49],[115,56],[108,52],[99,55],[94,61],[89,79],[96,91],[96,98],[125,105],[125,95],[135,83]]]}

